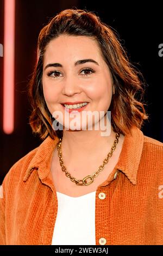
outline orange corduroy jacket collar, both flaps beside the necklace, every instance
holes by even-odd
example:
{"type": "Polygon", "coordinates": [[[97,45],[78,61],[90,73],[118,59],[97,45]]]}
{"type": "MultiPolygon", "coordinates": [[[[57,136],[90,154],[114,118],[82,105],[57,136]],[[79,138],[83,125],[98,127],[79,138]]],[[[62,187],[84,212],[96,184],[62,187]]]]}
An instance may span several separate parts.
{"type": "MultiPolygon", "coordinates": [[[[40,144],[36,149],[33,159],[29,163],[23,181],[28,180],[33,170],[37,170],[41,180],[48,176],[49,172],[51,172],[53,151],[55,147],[57,147],[58,141],[58,137],[52,139],[48,136],[45,141],[40,144]]],[[[124,136],[121,154],[115,166],[115,169],[121,170],[133,185],[136,184],[137,170],[143,150],[143,141],[143,132],[134,126],[130,133],[124,136]]]]}

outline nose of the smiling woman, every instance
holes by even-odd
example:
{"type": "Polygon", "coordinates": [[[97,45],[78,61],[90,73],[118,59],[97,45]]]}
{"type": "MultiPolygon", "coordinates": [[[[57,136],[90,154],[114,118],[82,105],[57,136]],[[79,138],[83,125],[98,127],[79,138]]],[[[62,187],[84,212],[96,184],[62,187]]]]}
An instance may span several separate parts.
{"type": "Polygon", "coordinates": [[[72,96],[73,94],[81,92],[79,81],[76,78],[67,76],[63,83],[62,94],[72,96]]]}

